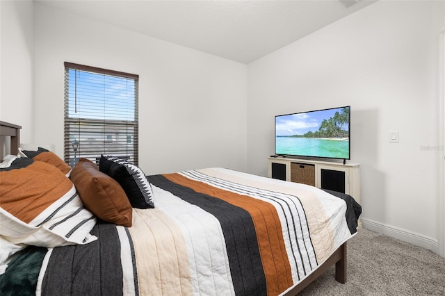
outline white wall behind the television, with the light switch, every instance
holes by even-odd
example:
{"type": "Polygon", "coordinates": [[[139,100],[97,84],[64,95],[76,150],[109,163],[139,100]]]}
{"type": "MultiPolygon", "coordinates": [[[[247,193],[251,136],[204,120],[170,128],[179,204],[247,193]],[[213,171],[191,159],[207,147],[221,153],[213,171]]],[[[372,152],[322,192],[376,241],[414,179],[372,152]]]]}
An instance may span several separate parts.
{"type": "Polygon", "coordinates": [[[443,1],[378,1],[250,64],[248,171],[266,175],[275,115],[350,105],[364,226],[437,252],[444,24],[443,1]]]}

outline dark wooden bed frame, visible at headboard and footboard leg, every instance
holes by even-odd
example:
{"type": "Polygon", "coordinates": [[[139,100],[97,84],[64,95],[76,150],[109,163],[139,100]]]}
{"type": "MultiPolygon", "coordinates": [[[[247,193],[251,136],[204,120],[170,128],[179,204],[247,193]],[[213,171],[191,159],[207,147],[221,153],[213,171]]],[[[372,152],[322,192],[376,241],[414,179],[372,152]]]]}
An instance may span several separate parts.
{"type": "MultiPolygon", "coordinates": [[[[0,121],[0,161],[3,161],[4,148],[7,142],[6,137],[10,137],[10,154],[17,154],[20,145],[20,129],[22,126],[17,124],[10,124],[8,122],[0,121]]],[[[284,295],[296,295],[303,290],[309,283],[312,283],[317,277],[323,274],[328,268],[335,263],[335,279],[340,283],[346,283],[346,242],[343,243],[334,254],[327,258],[325,263],[320,265],[309,277],[303,279],[297,286],[287,291],[284,295]]]]}

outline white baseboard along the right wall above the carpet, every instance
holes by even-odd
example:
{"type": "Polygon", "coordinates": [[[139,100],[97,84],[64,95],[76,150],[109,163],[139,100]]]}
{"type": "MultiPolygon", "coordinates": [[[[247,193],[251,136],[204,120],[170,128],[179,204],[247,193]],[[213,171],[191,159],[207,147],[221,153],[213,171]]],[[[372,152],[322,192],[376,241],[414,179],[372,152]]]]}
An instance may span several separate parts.
{"type": "Polygon", "coordinates": [[[425,249],[429,249],[432,252],[440,255],[439,242],[434,238],[423,236],[419,233],[413,233],[411,231],[407,231],[406,229],[400,229],[391,225],[382,224],[366,218],[360,218],[360,220],[362,220],[362,226],[364,229],[382,233],[385,236],[391,236],[391,238],[403,240],[404,242],[409,242],[412,245],[424,247],[425,249]]]}

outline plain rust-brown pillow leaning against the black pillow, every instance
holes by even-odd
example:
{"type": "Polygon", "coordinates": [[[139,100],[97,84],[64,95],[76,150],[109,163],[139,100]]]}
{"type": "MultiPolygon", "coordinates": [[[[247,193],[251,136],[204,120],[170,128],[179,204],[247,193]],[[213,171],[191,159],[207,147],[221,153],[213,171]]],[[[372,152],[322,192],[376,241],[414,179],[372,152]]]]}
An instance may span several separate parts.
{"type": "Polygon", "coordinates": [[[117,181],[99,171],[92,161],[81,158],[72,169],[71,181],[83,204],[100,219],[131,227],[133,208],[117,181]]]}

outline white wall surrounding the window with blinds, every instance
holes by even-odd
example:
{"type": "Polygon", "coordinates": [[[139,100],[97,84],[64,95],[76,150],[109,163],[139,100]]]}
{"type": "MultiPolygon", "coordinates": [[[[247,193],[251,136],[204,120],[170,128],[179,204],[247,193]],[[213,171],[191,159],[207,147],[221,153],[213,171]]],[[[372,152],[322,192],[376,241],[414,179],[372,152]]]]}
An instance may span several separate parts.
{"type": "Polygon", "coordinates": [[[146,174],[245,171],[247,66],[35,3],[35,141],[63,155],[63,62],[138,74],[146,174]]]}

